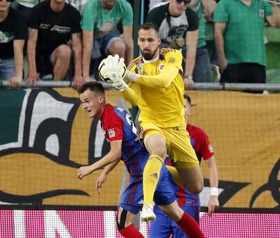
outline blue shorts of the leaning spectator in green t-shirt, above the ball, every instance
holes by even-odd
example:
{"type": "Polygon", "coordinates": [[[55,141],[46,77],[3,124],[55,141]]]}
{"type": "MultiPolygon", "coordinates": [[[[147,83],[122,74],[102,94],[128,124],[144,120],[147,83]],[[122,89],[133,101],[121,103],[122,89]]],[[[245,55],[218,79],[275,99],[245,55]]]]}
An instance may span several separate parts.
{"type": "Polygon", "coordinates": [[[109,55],[109,49],[112,43],[119,39],[120,31],[115,29],[108,35],[102,37],[101,39],[94,40],[94,44],[92,47],[92,59],[97,59],[99,57],[107,57],[109,55]]]}

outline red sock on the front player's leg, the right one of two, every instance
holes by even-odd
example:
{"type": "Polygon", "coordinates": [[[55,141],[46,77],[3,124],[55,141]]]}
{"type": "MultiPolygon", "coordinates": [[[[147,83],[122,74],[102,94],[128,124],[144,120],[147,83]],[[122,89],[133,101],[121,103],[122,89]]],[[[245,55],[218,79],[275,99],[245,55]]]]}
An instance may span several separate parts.
{"type": "Polygon", "coordinates": [[[197,221],[186,212],[183,213],[181,219],[176,223],[180,226],[181,230],[188,235],[188,237],[204,238],[202,230],[200,230],[200,225],[198,225],[197,221]]]}

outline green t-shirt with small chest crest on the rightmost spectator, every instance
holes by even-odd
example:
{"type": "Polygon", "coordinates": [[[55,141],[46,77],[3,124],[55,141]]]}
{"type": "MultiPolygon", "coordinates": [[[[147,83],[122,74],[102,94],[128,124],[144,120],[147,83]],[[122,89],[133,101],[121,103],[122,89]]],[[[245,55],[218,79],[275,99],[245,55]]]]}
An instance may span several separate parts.
{"type": "Polygon", "coordinates": [[[246,6],[240,0],[221,0],[214,12],[214,22],[226,22],[225,57],[231,64],[241,62],[264,65],[265,17],[272,15],[269,3],[252,0],[246,6]]]}

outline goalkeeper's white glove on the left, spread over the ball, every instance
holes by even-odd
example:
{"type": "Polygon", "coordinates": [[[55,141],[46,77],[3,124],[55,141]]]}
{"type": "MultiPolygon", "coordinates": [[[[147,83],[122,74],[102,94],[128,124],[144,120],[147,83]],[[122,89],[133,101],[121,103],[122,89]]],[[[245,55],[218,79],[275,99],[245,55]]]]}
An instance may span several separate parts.
{"type": "Polygon", "coordinates": [[[121,76],[124,62],[125,59],[123,57],[120,58],[118,55],[106,57],[104,60],[104,71],[106,72],[104,78],[113,80],[113,78],[121,76]]]}

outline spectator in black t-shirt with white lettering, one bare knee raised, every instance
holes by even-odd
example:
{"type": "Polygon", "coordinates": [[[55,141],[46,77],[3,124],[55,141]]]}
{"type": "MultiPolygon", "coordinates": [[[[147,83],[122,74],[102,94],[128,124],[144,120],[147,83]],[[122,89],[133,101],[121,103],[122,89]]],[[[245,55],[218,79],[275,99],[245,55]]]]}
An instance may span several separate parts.
{"type": "Polygon", "coordinates": [[[43,76],[52,68],[53,80],[63,80],[69,70],[72,48],[75,64],[73,87],[82,85],[82,43],[78,10],[65,3],[65,0],[42,1],[32,9],[28,23],[27,83],[36,83],[39,80],[38,73],[43,76]]]}

